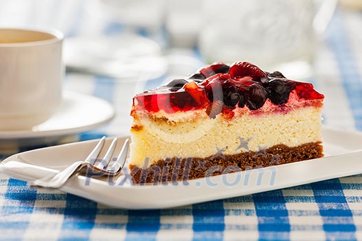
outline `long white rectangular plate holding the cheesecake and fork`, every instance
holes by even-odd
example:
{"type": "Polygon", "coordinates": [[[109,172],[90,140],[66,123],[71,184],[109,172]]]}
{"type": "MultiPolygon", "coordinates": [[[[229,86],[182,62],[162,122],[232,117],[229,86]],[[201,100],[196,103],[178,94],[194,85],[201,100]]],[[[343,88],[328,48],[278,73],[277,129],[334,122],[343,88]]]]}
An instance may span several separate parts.
{"type": "MultiPolygon", "coordinates": [[[[128,137],[120,139],[125,138],[128,137]]],[[[56,173],[77,160],[84,160],[96,143],[97,140],[89,140],[15,154],[3,160],[0,171],[24,181],[41,178],[56,173]]],[[[60,190],[125,209],[159,209],[191,205],[362,174],[361,143],[361,132],[345,132],[325,127],[324,158],[188,182],[168,182],[168,185],[132,185],[130,178],[125,178],[127,175],[109,180],[77,176],[60,190]]]]}

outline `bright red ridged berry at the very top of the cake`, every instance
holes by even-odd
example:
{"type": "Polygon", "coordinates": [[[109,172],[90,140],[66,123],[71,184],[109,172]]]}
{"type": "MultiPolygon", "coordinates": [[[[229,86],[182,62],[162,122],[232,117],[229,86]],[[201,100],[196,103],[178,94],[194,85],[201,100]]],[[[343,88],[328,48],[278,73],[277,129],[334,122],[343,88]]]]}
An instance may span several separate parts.
{"type": "Polygon", "coordinates": [[[261,78],[267,77],[267,74],[263,72],[263,70],[248,62],[237,62],[231,65],[230,75],[233,78],[243,78],[245,76],[250,76],[254,81],[260,81],[261,78]]]}

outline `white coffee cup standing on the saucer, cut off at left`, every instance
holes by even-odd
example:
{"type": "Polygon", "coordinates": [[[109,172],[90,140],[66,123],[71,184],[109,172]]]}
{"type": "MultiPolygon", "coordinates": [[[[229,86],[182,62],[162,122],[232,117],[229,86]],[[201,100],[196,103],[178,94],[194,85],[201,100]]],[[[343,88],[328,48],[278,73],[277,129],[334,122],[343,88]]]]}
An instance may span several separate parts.
{"type": "Polygon", "coordinates": [[[0,28],[0,130],[30,129],[61,103],[63,34],[0,28]]]}

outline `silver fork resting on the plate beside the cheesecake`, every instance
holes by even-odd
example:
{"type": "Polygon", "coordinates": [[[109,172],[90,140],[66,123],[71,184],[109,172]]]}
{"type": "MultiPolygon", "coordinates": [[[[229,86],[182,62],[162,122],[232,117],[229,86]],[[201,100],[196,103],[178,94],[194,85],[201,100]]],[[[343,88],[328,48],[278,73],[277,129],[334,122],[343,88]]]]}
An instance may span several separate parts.
{"type": "Polygon", "coordinates": [[[52,174],[50,176],[46,176],[44,178],[40,178],[37,180],[33,180],[28,182],[30,187],[50,187],[50,188],[59,188],[63,186],[72,176],[78,174],[84,167],[87,168],[86,173],[89,174],[101,174],[102,176],[115,176],[119,174],[125,164],[125,160],[128,154],[128,139],[125,140],[121,152],[117,156],[117,160],[115,160],[112,167],[108,167],[110,160],[112,159],[114,147],[117,145],[117,138],[112,140],[110,147],[108,147],[107,152],[101,162],[98,165],[94,165],[101,149],[103,148],[105,142],[105,136],[99,140],[96,147],[90,152],[86,160],[79,160],[66,169],[59,171],[57,174],[52,174]]]}

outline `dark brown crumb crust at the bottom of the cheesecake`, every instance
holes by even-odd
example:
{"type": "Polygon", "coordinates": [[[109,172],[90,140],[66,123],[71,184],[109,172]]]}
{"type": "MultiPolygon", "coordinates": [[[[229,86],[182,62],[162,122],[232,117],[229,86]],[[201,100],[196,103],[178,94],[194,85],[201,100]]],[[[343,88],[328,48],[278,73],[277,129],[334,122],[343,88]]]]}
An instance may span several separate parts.
{"type": "Polygon", "coordinates": [[[274,145],[261,151],[234,155],[215,155],[208,158],[167,158],[143,169],[130,165],[133,183],[159,183],[192,180],[245,171],[272,165],[294,163],[323,156],[321,142],[305,143],[297,147],[274,145]]]}

